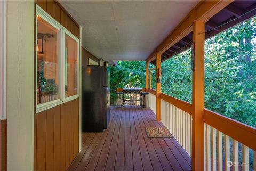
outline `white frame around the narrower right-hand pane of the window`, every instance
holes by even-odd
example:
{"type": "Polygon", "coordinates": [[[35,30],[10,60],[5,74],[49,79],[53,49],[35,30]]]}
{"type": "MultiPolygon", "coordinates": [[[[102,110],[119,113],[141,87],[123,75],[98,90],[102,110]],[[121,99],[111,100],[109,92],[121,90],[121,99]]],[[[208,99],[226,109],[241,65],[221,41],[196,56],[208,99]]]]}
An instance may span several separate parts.
{"type": "MultiPolygon", "coordinates": [[[[77,99],[79,97],[79,39],[74,36],[73,34],[71,34],[70,31],[68,31],[66,28],[63,29],[63,64],[62,66],[66,66],[66,61],[65,61],[65,56],[66,56],[66,48],[65,48],[65,36],[66,34],[73,38],[76,42],[77,42],[77,94],[73,95],[73,96],[70,96],[70,97],[66,97],[66,91],[65,91],[65,88],[63,88],[63,96],[64,96],[64,99],[63,101],[64,102],[67,102],[67,101],[70,101],[70,100],[74,100],[74,99],[77,99]]],[[[63,67],[63,74],[66,73],[66,67],[63,67]]],[[[63,87],[65,87],[65,83],[66,83],[66,76],[64,76],[64,81],[63,81],[63,87]]]]}

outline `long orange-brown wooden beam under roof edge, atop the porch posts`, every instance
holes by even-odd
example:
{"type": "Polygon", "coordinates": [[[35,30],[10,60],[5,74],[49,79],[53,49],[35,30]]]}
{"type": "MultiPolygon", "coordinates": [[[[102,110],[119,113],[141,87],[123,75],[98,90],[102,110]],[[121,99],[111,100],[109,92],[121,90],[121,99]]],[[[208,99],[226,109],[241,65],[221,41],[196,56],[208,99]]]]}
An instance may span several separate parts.
{"type": "Polygon", "coordinates": [[[147,62],[156,59],[156,54],[162,54],[192,31],[195,21],[208,21],[213,15],[229,5],[231,1],[201,1],[191,10],[177,27],[163,40],[161,44],[148,56],[147,62]]]}

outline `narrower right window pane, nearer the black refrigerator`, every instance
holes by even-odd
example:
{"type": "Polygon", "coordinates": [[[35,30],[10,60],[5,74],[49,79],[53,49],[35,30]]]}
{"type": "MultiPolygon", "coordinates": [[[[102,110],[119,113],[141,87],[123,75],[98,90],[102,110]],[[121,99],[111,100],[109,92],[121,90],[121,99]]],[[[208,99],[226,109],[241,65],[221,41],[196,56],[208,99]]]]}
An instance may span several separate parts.
{"type": "Polygon", "coordinates": [[[78,62],[78,43],[65,35],[65,96],[70,97],[77,94],[77,62],[78,62]]]}

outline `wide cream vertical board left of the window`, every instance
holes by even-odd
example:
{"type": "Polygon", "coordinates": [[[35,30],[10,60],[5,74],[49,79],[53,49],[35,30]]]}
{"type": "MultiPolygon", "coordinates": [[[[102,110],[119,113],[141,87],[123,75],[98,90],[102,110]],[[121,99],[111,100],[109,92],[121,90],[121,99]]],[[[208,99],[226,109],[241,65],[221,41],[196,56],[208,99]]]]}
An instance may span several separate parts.
{"type": "Polygon", "coordinates": [[[7,170],[33,170],[33,1],[7,1],[7,170]]]}

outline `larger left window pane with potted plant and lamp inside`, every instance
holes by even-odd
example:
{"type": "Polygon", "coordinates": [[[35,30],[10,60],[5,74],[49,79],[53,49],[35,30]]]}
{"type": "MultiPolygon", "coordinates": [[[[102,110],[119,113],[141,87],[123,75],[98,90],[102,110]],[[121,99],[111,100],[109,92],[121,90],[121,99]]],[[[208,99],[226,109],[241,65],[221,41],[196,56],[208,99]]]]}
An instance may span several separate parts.
{"type": "Polygon", "coordinates": [[[60,31],[37,16],[37,104],[60,98],[60,31]]]}

